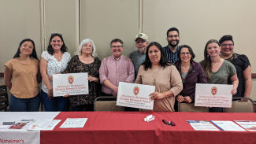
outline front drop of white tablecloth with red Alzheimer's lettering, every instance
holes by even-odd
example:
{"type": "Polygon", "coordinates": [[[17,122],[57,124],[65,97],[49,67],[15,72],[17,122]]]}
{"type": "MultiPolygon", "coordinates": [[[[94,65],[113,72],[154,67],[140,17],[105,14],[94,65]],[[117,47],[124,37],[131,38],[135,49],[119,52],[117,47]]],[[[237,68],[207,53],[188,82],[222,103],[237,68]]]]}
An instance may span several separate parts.
{"type": "Polygon", "coordinates": [[[40,143],[40,131],[0,131],[1,143],[40,143]]]}

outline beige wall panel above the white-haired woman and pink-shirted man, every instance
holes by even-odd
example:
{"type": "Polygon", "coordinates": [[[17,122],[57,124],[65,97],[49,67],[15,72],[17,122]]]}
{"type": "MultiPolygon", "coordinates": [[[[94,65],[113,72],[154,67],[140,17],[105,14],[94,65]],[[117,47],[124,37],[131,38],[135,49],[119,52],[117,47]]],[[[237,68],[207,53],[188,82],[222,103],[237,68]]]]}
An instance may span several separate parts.
{"type": "Polygon", "coordinates": [[[92,39],[102,60],[111,55],[112,39],[124,42],[124,56],[135,50],[138,0],[81,0],[81,40],[92,39]]]}

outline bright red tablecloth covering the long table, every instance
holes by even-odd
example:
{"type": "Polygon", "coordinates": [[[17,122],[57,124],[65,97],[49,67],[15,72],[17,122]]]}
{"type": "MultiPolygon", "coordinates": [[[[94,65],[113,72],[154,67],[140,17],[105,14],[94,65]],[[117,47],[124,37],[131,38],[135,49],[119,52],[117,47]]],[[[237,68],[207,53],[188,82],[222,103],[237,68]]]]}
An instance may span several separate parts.
{"type": "Polygon", "coordinates": [[[53,131],[41,131],[41,143],[256,143],[251,131],[195,131],[187,120],[256,120],[255,113],[61,112],[53,131]],[[145,122],[150,114],[155,120],[145,122]],[[88,118],[83,128],[59,128],[67,118],[88,118]],[[172,120],[168,126],[162,119],[172,120]]]}

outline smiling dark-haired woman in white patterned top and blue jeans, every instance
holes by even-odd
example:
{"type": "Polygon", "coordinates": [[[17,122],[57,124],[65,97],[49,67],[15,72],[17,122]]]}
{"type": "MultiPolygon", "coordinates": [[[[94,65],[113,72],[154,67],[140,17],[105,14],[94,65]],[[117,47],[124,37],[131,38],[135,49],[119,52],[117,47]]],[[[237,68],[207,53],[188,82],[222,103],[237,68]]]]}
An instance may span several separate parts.
{"type": "Polygon", "coordinates": [[[43,77],[41,96],[45,111],[67,111],[69,98],[53,97],[53,74],[63,72],[70,60],[62,35],[54,33],[50,36],[47,50],[41,54],[40,72],[43,77]]]}

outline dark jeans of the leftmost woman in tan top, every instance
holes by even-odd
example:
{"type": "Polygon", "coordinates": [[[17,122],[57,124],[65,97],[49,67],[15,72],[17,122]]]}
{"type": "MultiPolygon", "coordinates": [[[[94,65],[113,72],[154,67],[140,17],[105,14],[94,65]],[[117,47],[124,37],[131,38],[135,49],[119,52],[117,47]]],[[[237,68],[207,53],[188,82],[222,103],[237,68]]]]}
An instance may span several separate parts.
{"type": "Polygon", "coordinates": [[[10,112],[38,112],[40,105],[40,93],[34,98],[16,98],[11,94],[9,101],[10,112]]]}

